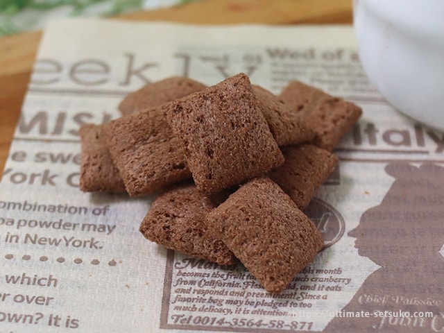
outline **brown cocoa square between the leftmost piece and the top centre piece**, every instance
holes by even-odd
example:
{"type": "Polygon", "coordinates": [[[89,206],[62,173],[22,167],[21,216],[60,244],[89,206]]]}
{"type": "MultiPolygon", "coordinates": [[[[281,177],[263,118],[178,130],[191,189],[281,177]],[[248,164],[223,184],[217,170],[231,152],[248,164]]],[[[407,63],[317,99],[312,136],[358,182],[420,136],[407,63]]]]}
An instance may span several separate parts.
{"type": "Polygon", "coordinates": [[[191,178],[185,153],[157,107],[103,125],[106,146],[130,196],[191,178]]]}

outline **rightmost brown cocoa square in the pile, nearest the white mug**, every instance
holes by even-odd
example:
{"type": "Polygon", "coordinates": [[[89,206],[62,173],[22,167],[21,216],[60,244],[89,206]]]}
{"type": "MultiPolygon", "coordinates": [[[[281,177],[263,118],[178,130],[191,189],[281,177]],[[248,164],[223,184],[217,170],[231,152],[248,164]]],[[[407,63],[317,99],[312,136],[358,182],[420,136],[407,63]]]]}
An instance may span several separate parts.
{"type": "Polygon", "coordinates": [[[280,99],[314,130],[314,144],[328,151],[332,151],[362,114],[359,106],[299,81],[284,87],[280,99]]]}

